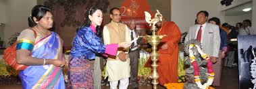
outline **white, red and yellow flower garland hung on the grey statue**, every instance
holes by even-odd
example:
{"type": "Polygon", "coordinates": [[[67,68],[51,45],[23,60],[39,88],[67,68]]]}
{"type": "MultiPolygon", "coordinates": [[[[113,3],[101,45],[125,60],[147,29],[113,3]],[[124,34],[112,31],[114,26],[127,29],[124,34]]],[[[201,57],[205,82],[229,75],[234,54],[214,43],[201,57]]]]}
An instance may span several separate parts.
{"type": "Polygon", "coordinates": [[[208,89],[209,86],[213,83],[213,78],[214,78],[214,72],[213,72],[213,68],[212,68],[212,63],[211,63],[211,58],[207,55],[207,54],[204,54],[202,52],[202,50],[200,49],[199,46],[191,43],[189,45],[189,59],[190,59],[190,63],[193,64],[193,67],[194,67],[194,78],[195,78],[195,82],[197,84],[197,86],[201,89],[208,89]],[[195,60],[195,56],[193,54],[193,51],[190,50],[191,48],[193,48],[194,46],[197,47],[197,50],[199,52],[199,54],[201,54],[201,57],[204,59],[204,60],[207,60],[207,71],[208,71],[208,80],[205,84],[201,84],[201,80],[199,78],[199,66],[197,65],[197,61],[195,60]]]}

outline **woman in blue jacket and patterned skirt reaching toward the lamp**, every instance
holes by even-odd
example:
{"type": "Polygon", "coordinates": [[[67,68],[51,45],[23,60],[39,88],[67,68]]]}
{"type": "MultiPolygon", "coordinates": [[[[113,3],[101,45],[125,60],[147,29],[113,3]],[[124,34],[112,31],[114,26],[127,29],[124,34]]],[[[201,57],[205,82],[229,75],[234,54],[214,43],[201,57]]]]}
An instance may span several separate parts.
{"type": "MultiPolygon", "coordinates": [[[[93,63],[95,54],[116,56],[118,48],[129,48],[130,42],[104,45],[98,35],[103,21],[101,9],[91,7],[85,13],[84,24],[78,29],[72,43],[69,79],[72,88],[93,89],[93,63]]],[[[125,35],[124,35],[125,36],[125,35]]]]}

